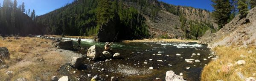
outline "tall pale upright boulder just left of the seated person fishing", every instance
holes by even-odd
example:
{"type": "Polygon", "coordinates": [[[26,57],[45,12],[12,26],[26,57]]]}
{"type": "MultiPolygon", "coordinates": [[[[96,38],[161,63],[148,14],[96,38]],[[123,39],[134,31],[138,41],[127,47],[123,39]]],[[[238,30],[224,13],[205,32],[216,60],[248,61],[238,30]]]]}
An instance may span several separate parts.
{"type": "Polygon", "coordinates": [[[89,57],[92,60],[96,60],[97,58],[99,58],[99,49],[97,46],[91,46],[88,51],[87,51],[87,57],[89,57]]]}

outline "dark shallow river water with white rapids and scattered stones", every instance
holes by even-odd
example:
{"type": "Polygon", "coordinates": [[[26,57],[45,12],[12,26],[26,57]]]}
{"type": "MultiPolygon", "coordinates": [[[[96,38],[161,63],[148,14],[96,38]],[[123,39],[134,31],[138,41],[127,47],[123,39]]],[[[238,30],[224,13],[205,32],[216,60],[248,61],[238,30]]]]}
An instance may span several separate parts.
{"type": "MultiPolygon", "coordinates": [[[[77,42],[73,41],[73,44],[76,46],[77,42]]],[[[94,42],[90,39],[81,41],[83,48],[90,48],[93,45],[98,46],[102,52],[105,43],[94,42]]],[[[156,78],[165,81],[166,71],[173,70],[177,75],[182,73],[187,81],[200,81],[201,70],[210,61],[208,57],[211,56],[207,46],[186,42],[119,42],[113,43],[111,48],[119,52],[123,58],[107,62],[85,60],[84,67],[79,70],[64,65],[60,69],[61,75],[73,76],[73,80],[80,77],[81,81],[90,81],[95,75],[100,75],[104,81],[110,81],[111,76],[119,77],[119,81],[154,81],[156,78]],[[193,53],[200,55],[192,55],[193,53]],[[176,54],[181,54],[181,56],[176,54]],[[188,63],[185,59],[198,59],[200,62],[192,60],[192,63],[188,63]],[[154,69],[151,70],[149,67],[154,69]],[[104,68],[103,71],[101,71],[102,68],[104,68]],[[89,78],[87,74],[91,77],[89,78]]]]}

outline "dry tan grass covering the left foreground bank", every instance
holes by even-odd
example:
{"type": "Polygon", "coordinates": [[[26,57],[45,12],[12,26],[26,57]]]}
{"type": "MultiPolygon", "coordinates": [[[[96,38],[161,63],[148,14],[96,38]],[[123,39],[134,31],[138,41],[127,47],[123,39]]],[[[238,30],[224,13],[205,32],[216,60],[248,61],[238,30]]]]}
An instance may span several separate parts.
{"type": "Polygon", "coordinates": [[[20,38],[19,40],[14,38],[0,39],[0,47],[7,47],[10,52],[10,59],[5,60],[6,65],[9,67],[0,69],[0,81],[15,81],[20,77],[25,77],[28,81],[49,81],[52,76],[58,75],[57,70],[63,65],[64,59],[56,51],[47,49],[52,47],[51,40],[29,37],[20,38]],[[9,42],[9,40],[12,40],[12,42],[9,42]],[[17,60],[17,57],[22,59],[17,60]],[[40,59],[44,61],[40,61],[40,59]],[[6,75],[8,70],[14,73],[6,75]]]}

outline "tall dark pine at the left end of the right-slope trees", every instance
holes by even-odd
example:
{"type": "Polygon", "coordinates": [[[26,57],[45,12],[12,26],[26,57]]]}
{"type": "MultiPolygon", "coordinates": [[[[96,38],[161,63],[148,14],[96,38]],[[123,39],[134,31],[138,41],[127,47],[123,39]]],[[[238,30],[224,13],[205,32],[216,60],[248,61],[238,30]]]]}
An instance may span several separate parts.
{"type": "Polygon", "coordinates": [[[219,29],[221,29],[230,19],[232,6],[230,5],[230,0],[212,0],[212,2],[212,7],[215,9],[212,12],[212,16],[219,29]]]}

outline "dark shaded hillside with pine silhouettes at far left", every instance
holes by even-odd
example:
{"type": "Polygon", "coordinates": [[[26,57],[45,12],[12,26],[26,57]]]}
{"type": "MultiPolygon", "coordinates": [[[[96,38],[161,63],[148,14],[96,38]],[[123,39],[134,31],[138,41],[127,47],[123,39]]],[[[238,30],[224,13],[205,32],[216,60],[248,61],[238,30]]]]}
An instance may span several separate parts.
{"type": "Polygon", "coordinates": [[[25,5],[17,5],[17,0],[3,0],[0,4],[0,34],[1,35],[28,35],[44,34],[42,25],[36,24],[35,11],[25,14],[25,5]]]}

